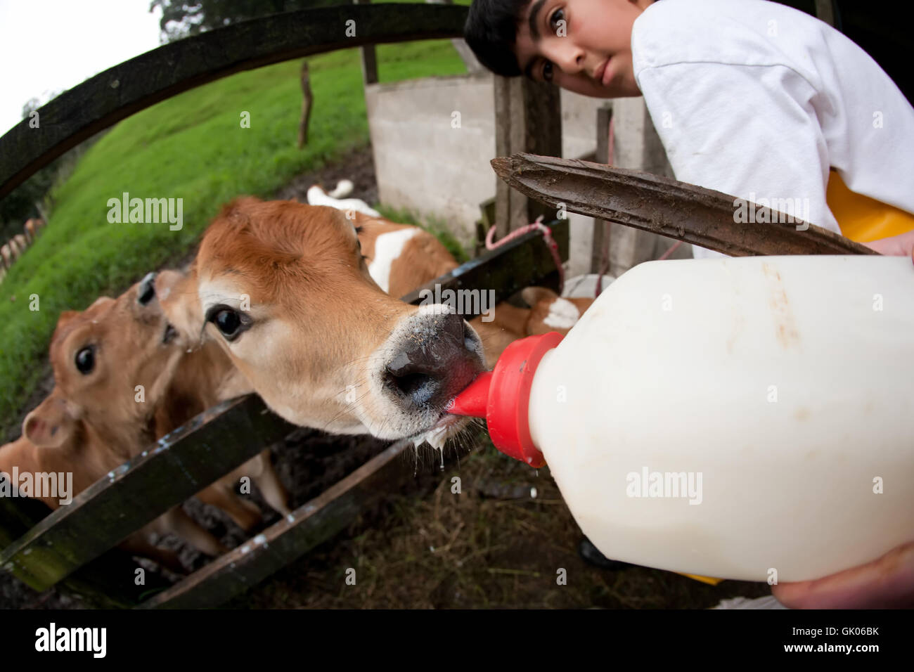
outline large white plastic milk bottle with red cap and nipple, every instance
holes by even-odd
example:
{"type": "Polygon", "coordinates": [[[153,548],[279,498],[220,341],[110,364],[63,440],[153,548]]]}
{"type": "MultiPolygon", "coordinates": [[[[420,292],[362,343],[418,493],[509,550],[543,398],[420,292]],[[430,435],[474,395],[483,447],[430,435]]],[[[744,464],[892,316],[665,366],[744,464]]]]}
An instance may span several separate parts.
{"type": "Polygon", "coordinates": [[[613,560],[748,581],[843,571],[914,540],[914,266],[643,263],[564,339],[512,344],[452,412],[545,458],[613,560]]]}

